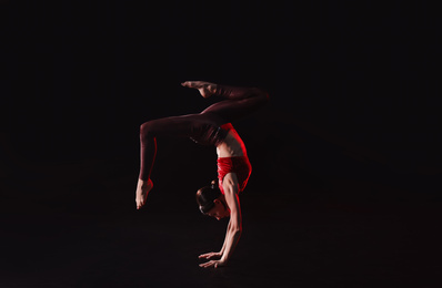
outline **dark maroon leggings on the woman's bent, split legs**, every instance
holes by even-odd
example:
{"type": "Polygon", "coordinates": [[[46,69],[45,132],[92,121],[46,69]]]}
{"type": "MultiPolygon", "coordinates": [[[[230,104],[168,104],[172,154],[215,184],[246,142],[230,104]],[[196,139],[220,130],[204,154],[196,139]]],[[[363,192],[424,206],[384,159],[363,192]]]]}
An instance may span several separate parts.
{"type": "Polygon", "coordinates": [[[141,165],[139,178],[150,178],[157,154],[157,136],[191,137],[201,144],[218,145],[227,133],[220,128],[252,113],[267,103],[269,96],[257,88],[217,85],[213,96],[222,101],[210,105],[200,114],[152,120],[140,127],[141,165]]]}

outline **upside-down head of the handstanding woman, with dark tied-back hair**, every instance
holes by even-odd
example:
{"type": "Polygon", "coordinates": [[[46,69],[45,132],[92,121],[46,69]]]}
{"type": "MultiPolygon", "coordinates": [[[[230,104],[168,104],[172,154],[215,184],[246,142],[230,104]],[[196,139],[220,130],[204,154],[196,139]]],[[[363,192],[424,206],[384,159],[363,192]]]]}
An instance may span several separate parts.
{"type": "Polygon", "coordinates": [[[224,195],[213,181],[210,186],[197,192],[197,203],[202,214],[221,219],[230,215],[224,195]]]}

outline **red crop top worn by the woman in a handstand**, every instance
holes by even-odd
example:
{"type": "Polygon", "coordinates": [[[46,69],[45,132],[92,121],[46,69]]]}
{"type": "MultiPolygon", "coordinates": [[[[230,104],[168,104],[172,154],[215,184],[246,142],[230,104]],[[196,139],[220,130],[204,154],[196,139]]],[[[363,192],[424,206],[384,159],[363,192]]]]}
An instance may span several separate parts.
{"type": "Polygon", "coordinates": [[[252,173],[252,165],[250,165],[248,156],[235,156],[235,157],[220,157],[218,158],[218,179],[219,186],[222,194],[224,189],[222,187],[222,181],[228,173],[237,174],[239,191],[243,191],[249,181],[250,174],[252,173]]]}

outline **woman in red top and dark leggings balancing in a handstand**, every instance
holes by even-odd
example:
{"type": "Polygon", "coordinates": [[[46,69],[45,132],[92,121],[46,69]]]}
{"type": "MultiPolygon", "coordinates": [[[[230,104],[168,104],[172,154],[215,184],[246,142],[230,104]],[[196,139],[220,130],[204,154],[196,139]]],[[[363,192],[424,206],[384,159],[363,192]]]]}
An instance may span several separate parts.
{"type": "Polygon", "coordinates": [[[158,119],[141,125],[137,209],[144,205],[153,187],[150,174],[157,154],[157,136],[191,137],[197,143],[214,145],[218,154],[218,185],[212,182],[210,186],[200,188],[197,192],[197,202],[204,215],[215,217],[218,220],[230,216],[221,250],[199,257],[209,260],[201,264],[201,267],[217,268],[227,264],[240,238],[242,225],[238,194],[245,188],[251,173],[244,143],[231,122],[264,105],[269,96],[257,88],[232,88],[203,81],[187,81],[181,85],[198,89],[203,97],[213,95],[222,101],[199,114],[158,119]]]}

